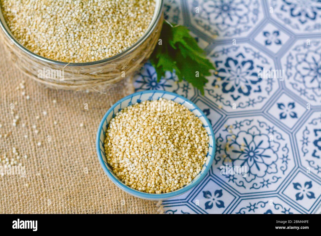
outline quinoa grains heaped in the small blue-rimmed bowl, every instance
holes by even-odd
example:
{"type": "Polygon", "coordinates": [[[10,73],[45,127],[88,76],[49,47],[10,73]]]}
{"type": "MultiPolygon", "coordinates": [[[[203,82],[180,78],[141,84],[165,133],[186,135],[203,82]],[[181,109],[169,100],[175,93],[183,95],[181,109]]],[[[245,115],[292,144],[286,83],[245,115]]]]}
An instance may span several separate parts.
{"type": "Polygon", "coordinates": [[[115,175],[131,188],[167,193],[191,182],[202,170],[209,137],[185,106],[160,98],[117,112],[104,148],[115,175]]]}

